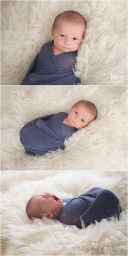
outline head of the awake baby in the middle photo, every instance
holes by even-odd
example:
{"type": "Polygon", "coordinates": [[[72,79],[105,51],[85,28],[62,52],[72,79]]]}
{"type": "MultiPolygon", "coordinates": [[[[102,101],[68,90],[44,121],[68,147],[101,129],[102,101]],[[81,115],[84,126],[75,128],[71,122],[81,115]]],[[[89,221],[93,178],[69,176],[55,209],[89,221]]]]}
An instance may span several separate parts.
{"type": "Polygon", "coordinates": [[[97,109],[92,102],[79,101],[69,110],[67,122],[77,129],[84,128],[97,117],[97,109]]]}

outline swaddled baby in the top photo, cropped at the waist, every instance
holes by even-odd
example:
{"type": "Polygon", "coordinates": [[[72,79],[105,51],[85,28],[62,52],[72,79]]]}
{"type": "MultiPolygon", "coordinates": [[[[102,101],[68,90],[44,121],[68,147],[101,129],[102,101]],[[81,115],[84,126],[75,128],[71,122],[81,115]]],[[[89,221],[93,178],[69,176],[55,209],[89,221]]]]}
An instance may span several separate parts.
{"type": "Polygon", "coordinates": [[[78,84],[73,72],[79,46],[84,38],[86,21],[76,11],[57,15],[52,28],[52,40],[44,43],[31,63],[23,85],[78,84]]]}

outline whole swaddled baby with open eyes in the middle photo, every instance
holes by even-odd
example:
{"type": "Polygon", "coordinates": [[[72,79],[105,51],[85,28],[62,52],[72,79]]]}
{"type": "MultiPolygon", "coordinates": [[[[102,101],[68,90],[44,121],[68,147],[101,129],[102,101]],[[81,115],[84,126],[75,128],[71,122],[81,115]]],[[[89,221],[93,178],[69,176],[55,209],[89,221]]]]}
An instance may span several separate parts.
{"type": "Polygon", "coordinates": [[[20,130],[25,153],[43,155],[48,151],[64,149],[65,139],[96,117],[97,109],[92,102],[79,101],[68,114],[60,112],[34,119],[20,130]]]}

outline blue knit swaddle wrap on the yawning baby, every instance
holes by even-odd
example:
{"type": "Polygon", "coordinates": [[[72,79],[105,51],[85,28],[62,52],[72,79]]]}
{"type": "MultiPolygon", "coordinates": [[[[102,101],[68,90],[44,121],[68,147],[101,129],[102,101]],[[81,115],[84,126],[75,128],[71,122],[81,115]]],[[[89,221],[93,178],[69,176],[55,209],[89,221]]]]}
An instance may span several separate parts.
{"type": "Polygon", "coordinates": [[[56,220],[78,228],[100,222],[103,218],[116,216],[119,219],[119,199],[110,190],[94,187],[78,197],[63,199],[66,204],[56,220]]]}

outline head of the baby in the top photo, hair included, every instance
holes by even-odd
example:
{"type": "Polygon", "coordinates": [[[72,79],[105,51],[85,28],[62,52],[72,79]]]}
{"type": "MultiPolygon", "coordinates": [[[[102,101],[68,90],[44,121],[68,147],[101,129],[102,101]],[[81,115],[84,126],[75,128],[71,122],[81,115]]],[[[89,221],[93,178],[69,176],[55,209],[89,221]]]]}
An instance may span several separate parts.
{"type": "Polygon", "coordinates": [[[77,51],[85,29],[86,21],[76,11],[64,11],[57,15],[52,28],[55,54],[77,51]]]}

